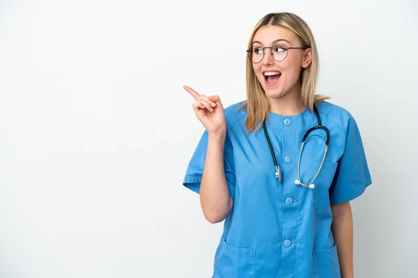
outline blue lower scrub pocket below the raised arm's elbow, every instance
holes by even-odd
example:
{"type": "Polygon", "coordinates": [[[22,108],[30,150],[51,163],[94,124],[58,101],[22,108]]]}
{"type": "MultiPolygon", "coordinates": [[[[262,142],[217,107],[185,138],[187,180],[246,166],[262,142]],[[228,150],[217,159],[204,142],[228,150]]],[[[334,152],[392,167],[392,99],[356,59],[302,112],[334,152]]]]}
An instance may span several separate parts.
{"type": "Polygon", "coordinates": [[[222,240],[212,278],[254,278],[256,251],[233,247],[222,240]]]}

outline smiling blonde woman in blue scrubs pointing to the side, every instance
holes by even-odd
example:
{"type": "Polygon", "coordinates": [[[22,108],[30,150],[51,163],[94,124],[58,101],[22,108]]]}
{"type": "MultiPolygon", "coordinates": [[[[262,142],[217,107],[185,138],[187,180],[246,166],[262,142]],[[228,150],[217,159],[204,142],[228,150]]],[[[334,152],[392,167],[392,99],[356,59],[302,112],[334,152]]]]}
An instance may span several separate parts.
{"type": "Polygon", "coordinates": [[[371,184],[357,124],[315,95],[318,52],[297,15],[265,15],[247,54],[243,103],[184,87],[206,131],[183,184],[225,220],[212,277],[353,277],[349,201],[371,184]]]}

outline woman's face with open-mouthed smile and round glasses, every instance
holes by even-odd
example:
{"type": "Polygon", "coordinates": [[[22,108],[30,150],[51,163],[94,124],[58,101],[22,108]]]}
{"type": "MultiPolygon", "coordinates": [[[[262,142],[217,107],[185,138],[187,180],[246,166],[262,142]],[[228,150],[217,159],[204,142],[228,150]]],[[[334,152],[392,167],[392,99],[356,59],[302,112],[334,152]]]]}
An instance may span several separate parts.
{"type": "Polygon", "coordinates": [[[273,49],[264,49],[264,57],[260,63],[252,63],[265,94],[277,99],[299,93],[300,72],[311,63],[311,49],[288,49],[286,58],[277,62],[286,53],[282,47],[302,47],[297,35],[280,26],[264,26],[258,29],[254,35],[253,49],[258,49],[260,53],[260,48],[273,46],[273,49]],[[273,59],[272,51],[279,59],[273,59]]]}

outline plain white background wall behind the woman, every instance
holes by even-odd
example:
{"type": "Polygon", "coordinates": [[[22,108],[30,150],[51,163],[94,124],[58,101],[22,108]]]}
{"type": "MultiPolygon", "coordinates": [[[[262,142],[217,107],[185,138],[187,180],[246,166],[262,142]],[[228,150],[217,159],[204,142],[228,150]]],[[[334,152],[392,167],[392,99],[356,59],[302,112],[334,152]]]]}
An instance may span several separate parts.
{"type": "Polygon", "coordinates": [[[210,277],[223,223],[182,186],[203,132],[182,86],[245,99],[249,35],[280,11],[362,132],[355,277],[418,277],[415,0],[1,0],[0,277],[210,277]]]}

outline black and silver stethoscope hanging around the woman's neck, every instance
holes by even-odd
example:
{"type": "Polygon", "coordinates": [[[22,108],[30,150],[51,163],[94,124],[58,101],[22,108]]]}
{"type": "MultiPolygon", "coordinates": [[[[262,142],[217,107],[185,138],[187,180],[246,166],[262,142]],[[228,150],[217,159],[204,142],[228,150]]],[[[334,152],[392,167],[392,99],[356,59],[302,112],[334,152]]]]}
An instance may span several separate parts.
{"type": "MultiPolygon", "coordinates": [[[[318,110],[316,109],[315,105],[314,105],[314,111],[315,111],[315,114],[316,114],[316,119],[318,120],[318,125],[309,129],[303,136],[302,146],[300,147],[300,152],[299,152],[299,158],[297,159],[297,179],[295,180],[295,184],[303,186],[305,188],[311,188],[311,189],[315,188],[315,184],[313,182],[315,181],[316,177],[318,176],[318,174],[320,172],[320,169],[323,167],[323,163],[324,163],[324,160],[325,160],[325,154],[327,154],[327,150],[328,150],[328,143],[330,142],[330,131],[328,131],[328,129],[325,126],[320,124],[319,113],[318,113],[318,110]],[[311,181],[309,181],[309,183],[305,184],[305,183],[302,183],[302,181],[300,181],[300,157],[302,156],[303,146],[304,146],[304,143],[309,136],[309,133],[311,133],[311,131],[314,131],[315,129],[325,130],[325,132],[327,133],[327,140],[325,140],[324,155],[323,155],[322,161],[320,163],[319,169],[318,169],[318,171],[316,171],[316,174],[311,179],[311,181]]],[[[277,179],[279,179],[279,182],[281,182],[281,169],[280,169],[279,165],[277,165],[276,155],[274,154],[272,143],[270,142],[270,138],[268,137],[267,129],[265,128],[265,121],[263,122],[263,129],[264,129],[265,138],[267,139],[268,145],[270,147],[270,151],[272,152],[274,167],[276,168],[276,173],[275,173],[276,177],[277,177],[277,179]]]]}

